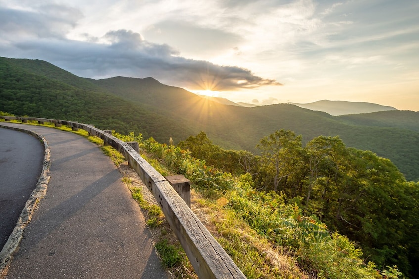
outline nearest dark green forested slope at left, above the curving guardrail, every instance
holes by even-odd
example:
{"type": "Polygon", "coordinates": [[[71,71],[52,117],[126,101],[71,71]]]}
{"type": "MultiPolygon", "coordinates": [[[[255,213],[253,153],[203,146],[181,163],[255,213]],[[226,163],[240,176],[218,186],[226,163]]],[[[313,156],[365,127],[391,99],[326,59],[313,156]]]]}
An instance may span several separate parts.
{"type": "Polygon", "coordinates": [[[0,111],[90,123],[124,133],[141,132],[161,141],[168,137],[179,141],[194,132],[39,60],[0,59],[0,111]]]}

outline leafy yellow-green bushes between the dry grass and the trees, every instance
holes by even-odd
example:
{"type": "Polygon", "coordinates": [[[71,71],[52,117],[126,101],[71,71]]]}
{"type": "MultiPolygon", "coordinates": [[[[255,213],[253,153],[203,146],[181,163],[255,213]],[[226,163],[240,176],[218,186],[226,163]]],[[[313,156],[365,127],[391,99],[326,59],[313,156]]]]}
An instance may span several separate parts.
{"type": "Polygon", "coordinates": [[[298,206],[286,205],[275,192],[249,186],[246,175],[230,193],[229,206],[260,235],[294,252],[306,271],[317,278],[380,278],[375,265],[365,265],[362,251],[347,237],[330,233],[325,224],[303,216],[298,206]]]}

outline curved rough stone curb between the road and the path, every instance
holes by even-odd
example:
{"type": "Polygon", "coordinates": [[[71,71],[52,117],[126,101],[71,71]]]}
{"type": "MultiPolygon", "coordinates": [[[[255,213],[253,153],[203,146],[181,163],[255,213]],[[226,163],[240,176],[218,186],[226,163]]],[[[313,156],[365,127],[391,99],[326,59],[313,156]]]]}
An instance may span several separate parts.
{"type": "Polygon", "coordinates": [[[32,215],[34,211],[37,209],[40,200],[45,196],[50,178],[48,174],[49,167],[51,166],[51,161],[49,145],[44,136],[37,134],[34,131],[25,130],[17,127],[3,126],[2,124],[0,124],[0,127],[30,134],[42,141],[44,143],[45,149],[44,159],[42,162],[42,171],[38,179],[37,185],[35,189],[32,191],[28,201],[26,201],[25,207],[20,213],[19,219],[17,220],[13,232],[10,234],[9,239],[7,240],[6,244],[0,252],[0,278],[3,278],[7,274],[7,268],[13,259],[14,253],[17,252],[19,248],[20,241],[23,239],[23,231],[25,230],[28,223],[31,221],[32,215]]]}

